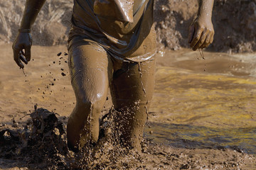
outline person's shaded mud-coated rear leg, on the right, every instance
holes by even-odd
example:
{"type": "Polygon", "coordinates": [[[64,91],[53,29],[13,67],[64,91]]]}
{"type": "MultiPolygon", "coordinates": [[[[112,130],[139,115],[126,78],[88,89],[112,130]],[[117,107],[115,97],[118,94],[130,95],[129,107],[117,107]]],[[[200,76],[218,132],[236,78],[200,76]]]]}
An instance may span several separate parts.
{"type": "Polygon", "coordinates": [[[119,111],[116,121],[121,140],[138,150],[154,91],[154,68],[154,60],[124,62],[113,75],[112,96],[114,108],[119,111]]]}

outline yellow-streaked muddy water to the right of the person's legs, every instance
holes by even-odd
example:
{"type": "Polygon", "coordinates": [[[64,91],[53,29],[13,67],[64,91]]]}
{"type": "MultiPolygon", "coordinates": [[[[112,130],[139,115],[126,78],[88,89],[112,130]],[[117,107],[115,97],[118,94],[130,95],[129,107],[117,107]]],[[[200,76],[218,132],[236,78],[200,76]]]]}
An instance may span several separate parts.
{"type": "Polygon", "coordinates": [[[256,155],[255,59],[191,50],[159,55],[145,135],[174,147],[256,155]]]}

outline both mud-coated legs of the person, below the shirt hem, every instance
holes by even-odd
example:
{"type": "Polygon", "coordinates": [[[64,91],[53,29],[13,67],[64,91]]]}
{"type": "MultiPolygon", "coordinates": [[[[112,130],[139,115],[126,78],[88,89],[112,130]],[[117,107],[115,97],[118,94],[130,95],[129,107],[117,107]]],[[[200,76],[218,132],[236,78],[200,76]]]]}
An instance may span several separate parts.
{"type": "MultiPolygon", "coordinates": [[[[78,37],[79,38],[79,37],[78,37]]],[[[82,39],[69,48],[71,84],[76,106],[68,120],[68,145],[74,150],[97,142],[99,118],[110,87],[122,140],[139,148],[154,91],[154,60],[114,60],[103,47],[82,39]]]]}

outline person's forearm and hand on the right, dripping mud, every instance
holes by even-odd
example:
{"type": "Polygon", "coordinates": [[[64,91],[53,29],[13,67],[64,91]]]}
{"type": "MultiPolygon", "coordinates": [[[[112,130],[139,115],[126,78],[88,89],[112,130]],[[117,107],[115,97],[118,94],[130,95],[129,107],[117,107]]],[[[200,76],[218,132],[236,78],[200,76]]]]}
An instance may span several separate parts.
{"type": "Polygon", "coordinates": [[[193,50],[208,47],[213,42],[213,2],[214,0],[199,0],[198,14],[191,23],[188,34],[188,43],[193,50]]]}

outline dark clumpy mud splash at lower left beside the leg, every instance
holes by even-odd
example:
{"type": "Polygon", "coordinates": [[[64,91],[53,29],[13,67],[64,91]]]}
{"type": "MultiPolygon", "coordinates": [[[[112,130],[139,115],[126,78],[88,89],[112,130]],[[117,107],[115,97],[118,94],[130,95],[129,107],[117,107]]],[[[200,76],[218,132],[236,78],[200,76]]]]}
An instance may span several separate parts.
{"type": "Polygon", "coordinates": [[[68,154],[68,147],[65,144],[63,123],[55,113],[43,108],[30,115],[31,119],[22,129],[14,123],[14,130],[1,130],[1,157],[36,164],[37,168],[42,168],[41,164],[46,162],[64,166],[66,162],[63,155],[68,154]]]}

